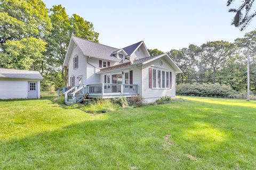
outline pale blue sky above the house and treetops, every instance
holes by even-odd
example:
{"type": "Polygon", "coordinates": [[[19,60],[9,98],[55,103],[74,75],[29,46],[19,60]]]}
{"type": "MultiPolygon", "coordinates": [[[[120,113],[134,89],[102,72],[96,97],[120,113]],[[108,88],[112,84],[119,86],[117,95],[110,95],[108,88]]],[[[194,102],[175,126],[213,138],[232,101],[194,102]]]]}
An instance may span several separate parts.
{"type": "MultiPolygon", "coordinates": [[[[202,45],[207,41],[233,42],[255,29],[256,19],[241,32],[231,25],[227,0],[82,1],[43,0],[47,8],[61,4],[68,15],[78,14],[94,25],[99,43],[123,48],[143,40],[147,48],[163,52],[202,45]]],[[[239,0],[231,7],[239,5],[239,0]]]]}

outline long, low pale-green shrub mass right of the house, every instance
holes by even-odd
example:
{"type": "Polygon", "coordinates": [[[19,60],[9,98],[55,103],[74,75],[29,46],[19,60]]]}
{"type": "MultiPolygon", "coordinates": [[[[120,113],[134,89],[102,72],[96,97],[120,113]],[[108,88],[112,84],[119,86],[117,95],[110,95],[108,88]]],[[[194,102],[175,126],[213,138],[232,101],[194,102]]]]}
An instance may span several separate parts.
{"type": "Polygon", "coordinates": [[[177,94],[182,96],[235,98],[238,92],[226,84],[187,83],[177,86],[177,94]]]}

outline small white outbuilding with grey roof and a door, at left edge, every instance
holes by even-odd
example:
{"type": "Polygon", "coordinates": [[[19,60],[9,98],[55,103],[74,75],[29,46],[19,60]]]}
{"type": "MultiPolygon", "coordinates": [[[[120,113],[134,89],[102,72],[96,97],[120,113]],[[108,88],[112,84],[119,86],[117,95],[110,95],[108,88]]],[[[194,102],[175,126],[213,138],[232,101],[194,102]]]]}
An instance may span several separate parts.
{"type": "Polygon", "coordinates": [[[40,98],[38,71],[0,68],[0,99],[40,98]]]}

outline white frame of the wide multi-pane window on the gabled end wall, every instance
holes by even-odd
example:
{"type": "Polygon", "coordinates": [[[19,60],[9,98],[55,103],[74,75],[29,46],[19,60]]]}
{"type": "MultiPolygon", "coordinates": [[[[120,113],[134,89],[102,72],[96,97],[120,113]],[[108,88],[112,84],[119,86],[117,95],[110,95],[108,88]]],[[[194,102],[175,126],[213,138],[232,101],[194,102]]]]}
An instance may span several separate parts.
{"type": "Polygon", "coordinates": [[[158,69],[156,67],[152,67],[152,71],[151,71],[151,88],[152,89],[170,89],[169,87],[166,87],[166,72],[169,72],[169,86],[170,86],[170,71],[169,70],[165,70],[165,69],[158,69]],[[156,70],[156,87],[153,87],[153,70],[156,70]],[[160,86],[161,87],[158,87],[158,71],[161,71],[160,73],[160,86]],[[164,88],[162,86],[162,83],[163,83],[163,79],[162,79],[162,75],[163,73],[162,72],[165,72],[164,73],[164,76],[165,76],[165,81],[164,81],[164,88]]]}

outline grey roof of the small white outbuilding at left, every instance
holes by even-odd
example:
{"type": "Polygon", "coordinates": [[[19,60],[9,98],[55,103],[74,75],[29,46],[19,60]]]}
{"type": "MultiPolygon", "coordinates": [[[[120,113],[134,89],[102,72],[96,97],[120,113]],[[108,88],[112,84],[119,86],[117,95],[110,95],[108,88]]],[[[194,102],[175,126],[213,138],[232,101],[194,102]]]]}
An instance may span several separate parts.
{"type": "Polygon", "coordinates": [[[38,71],[3,69],[0,68],[0,78],[19,78],[42,80],[43,77],[38,71]]]}

